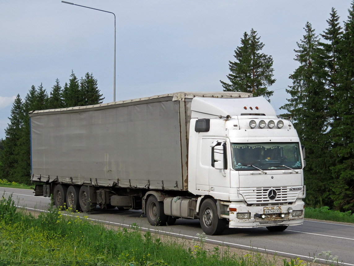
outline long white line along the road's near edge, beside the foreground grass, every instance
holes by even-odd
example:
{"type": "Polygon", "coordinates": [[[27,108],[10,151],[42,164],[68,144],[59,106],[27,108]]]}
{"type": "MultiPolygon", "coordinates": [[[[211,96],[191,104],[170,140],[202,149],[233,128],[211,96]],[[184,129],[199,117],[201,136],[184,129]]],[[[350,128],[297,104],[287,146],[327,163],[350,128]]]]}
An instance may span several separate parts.
{"type": "MultiPolygon", "coordinates": [[[[35,210],[32,208],[27,208],[25,207],[25,209],[31,209],[31,210],[35,210]]],[[[45,211],[47,212],[47,211],[45,211]]],[[[66,216],[71,216],[69,214],[64,214],[66,216]]],[[[82,219],[85,219],[84,217],[80,217],[82,219]]],[[[98,220],[98,219],[92,219],[92,218],[86,218],[87,220],[90,221],[96,221],[96,222],[104,222],[104,223],[108,223],[108,224],[113,224],[113,225],[119,225],[119,226],[125,226],[125,227],[130,227],[130,225],[126,225],[124,223],[116,223],[116,222],[109,222],[109,221],[103,221],[103,220],[98,220]]],[[[185,234],[179,234],[179,233],[172,233],[172,232],[167,232],[167,231],[161,231],[158,229],[152,229],[152,228],[146,228],[146,227],[138,227],[144,230],[148,230],[148,231],[154,231],[154,232],[160,232],[160,233],[165,233],[165,234],[170,234],[170,235],[178,235],[178,236],[182,236],[182,237],[189,237],[189,238],[194,238],[194,239],[199,239],[199,237],[195,237],[193,235],[185,235],[185,234]]],[[[289,230],[288,230],[289,231],[289,230]]],[[[302,233],[302,232],[300,232],[302,233]]],[[[230,242],[224,242],[224,241],[220,241],[220,240],[214,240],[214,239],[204,239],[206,242],[213,242],[213,243],[219,243],[219,244],[226,244],[226,245],[233,245],[233,246],[240,246],[242,248],[250,248],[250,249],[255,249],[257,251],[265,251],[265,252],[273,252],[276,254],[284,254],[284,255],[289,255],[289,256],[294,256],[294,257],[303,257],[303,258],[307,258],[307,259],[311,259],[314,260],[314,257],[311,256],[306,256],[306,255],[299,255],[299,254],[293,254],[293,253],[287,253],[287,252],[282,252],[282,251],[276,251],[276,250],[271,250],[271,249],[264,249],[264,248],[255,248],[254,246],[246,246],[246,245],[241,245],[241,244],[235,244],[235,243],[230,243],[230,242]]],[[[324,261],[324,262],[334,262],[337,263],[337,261],[329,261],[329,260],[325,260],[325,259],[320,259],[320,258],[316,258],[317,261],[324,261]]],[[[354,264],[350,264],[350,263],[346,263],[346,262],[340,262],[341,265],[349,265],[349,266],[354,266],[354,264]]]]}

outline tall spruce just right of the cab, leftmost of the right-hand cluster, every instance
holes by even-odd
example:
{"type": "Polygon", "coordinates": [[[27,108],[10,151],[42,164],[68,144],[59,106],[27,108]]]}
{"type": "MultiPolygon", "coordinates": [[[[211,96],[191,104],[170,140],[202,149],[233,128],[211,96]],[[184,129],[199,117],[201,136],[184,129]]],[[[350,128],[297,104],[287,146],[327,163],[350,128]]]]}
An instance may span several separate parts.
{"type": "Polygon", "coordinates": [[[324,146],[327,131],[327,113],[325,110],[327,88],[324,82],[322,61],[319,60],[319,37],[315,34],[311,23],[307,22],[305,35],[297,42],[298,49],[295,60],[298,68],[289,77],[292,86],[286,91],[291,95],[288,104],[282,106],[292,116],[302,145],[306,148],[307,167],[304,171],[305,184],[308,190],[307,203],[311,205],[330,203],[328,201],[329,167],[321,162],[328,147],[324,146]],[[319,63],[321,62],[321,63],[319,63]],[[322,167],[327,167],[324,173],[322,167]],[[326,176],[324,178],[324,176],[326,176]],[[324,192],[327,194],[324,196],[324,192]]]}

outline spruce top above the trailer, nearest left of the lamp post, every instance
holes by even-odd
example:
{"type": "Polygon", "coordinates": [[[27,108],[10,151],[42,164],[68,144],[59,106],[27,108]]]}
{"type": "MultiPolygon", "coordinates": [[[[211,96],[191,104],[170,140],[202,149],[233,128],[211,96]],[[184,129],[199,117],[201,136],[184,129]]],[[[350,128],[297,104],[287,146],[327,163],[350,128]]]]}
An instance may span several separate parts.
{"type": "Polygon", "coordinates": [[[102,104],[104,97],[100,94],[100,90],[97,86],[97,79],[87,72],[85,78],[80,79],[80,91],[85,96],[83,105],[102,104]]]}

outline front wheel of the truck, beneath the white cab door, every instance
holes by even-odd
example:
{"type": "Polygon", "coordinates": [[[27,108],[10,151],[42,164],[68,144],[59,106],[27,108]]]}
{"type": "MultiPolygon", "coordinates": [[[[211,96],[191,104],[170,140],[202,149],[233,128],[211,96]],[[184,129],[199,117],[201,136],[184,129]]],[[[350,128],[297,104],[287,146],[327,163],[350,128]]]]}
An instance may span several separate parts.
{"type": "Polygon", "coordinates": [[[226,227],[226,220],[219,219],[215,201],[206,199],[200,207],[200,226],[207,235],[221,234],[226,227]]]}

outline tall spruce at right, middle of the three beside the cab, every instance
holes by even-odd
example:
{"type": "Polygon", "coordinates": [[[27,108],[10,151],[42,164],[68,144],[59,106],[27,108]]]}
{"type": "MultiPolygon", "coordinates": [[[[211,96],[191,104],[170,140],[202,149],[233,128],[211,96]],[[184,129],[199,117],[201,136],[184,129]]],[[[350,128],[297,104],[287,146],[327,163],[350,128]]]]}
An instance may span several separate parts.
{"type": "Polygon", "coordinates": [[[330,137],[330,129],[333,121],[337,120],[337,115],[333,110],[337,100],[333,95],[338,86],[338,62],[339,43],[342,38],[342,28],[339,24],[339,16],[337,11],[332,8],[330,18],[327,20],[328,28],[321,34],[324,41],[320,41],[316,49],[316,59],[314,61],[315,75],[318,77],[318,92],[316,93],[317,112],[313,118],[318,122],[318,126],[322,127],[322,131],[310,143],[311,149],[309,164],[307,167],[306,177],[309,176],[313,180],[308,184],[309,195],[313,191],[318,192],[317,199],[321,200],[321,205],[333,205],[331,199],[333,177],[330,167],[334,164],[333,156],[331,156],[332,140],[330,137]]]}

